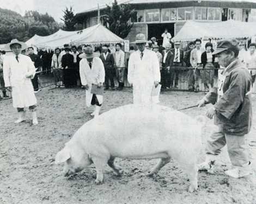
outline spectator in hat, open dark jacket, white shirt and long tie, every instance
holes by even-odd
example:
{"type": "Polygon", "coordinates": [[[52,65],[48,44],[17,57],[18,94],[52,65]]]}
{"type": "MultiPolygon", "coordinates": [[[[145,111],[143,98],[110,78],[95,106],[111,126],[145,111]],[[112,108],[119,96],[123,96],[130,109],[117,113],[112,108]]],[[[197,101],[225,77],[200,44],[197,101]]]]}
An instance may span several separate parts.
{"type": "MultiPolygon", "coordinates": [[[[182,67],[184,64],[184,52],[183,50],[180,49],[180,42],[179,41],[175,41],[174,42],[174,48],[170,50],[173,54],[174,54],[174,59],[173,59],[173,71],[175,74],[175,78],[174,76],[172,76],[172,79],[174,79],[174,87],[178,88],[178,84],[179,84],[179,74],[180,74],[180,70],[179,67],[182,67]]],[[[173,80],[170,81],[170,86],[173,85],[173,80]]]]}

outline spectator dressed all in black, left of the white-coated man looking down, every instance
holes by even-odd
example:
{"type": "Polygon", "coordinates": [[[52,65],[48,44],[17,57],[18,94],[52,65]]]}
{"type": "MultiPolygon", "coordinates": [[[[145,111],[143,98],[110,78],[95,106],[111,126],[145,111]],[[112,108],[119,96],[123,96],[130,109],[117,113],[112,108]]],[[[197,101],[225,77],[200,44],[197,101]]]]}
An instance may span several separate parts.
{"type": "Polygon", "coordinates": [[[63,78],[65,87],[76,86],[76,77],[74,67],[74,56],[70,53],[70,48],[65,48],[65,54],[62,56],[63,78]]]}

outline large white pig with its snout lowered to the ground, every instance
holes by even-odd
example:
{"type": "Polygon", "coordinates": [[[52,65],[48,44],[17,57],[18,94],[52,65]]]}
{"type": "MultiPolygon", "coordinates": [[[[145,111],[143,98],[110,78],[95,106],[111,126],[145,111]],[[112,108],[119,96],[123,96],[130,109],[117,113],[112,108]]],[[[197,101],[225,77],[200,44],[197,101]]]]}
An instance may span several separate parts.
{"type": "Polygon", "coordinates": [[[188,190],[197,190],[197,158],[201,148],[202,123],[169,107],[125,105],[109,110],[85,123],[56,155],[65,162],[65,176],[94,163],[97,184],[103,182],[106,164],[115,173],[122,169],[114,158],[161,160],[148,176],[173,158],[190,179],[188,190]]]}

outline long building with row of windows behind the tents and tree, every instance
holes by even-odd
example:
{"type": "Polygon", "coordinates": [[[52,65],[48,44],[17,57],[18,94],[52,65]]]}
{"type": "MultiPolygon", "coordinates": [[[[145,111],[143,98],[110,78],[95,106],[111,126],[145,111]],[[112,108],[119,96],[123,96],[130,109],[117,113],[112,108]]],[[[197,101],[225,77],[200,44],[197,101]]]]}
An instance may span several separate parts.
{"type": "MultiPolygon", "coordinates": [[[[161,34],[167,28],[174,36],[186,21],[256,21],[255,0],[130,0],[118,3],[129,3],[137,11],[137,17],[130,21],[133,28],[127,36],[130,42],[137,33],[145,34],[148,39],[155,36],[161,41],[161,34]]],[[[100,7],[101,20],[105,7],[100,7]]],[[[84,28],[97,23],[97,8],[76,14],[84,28]]]]}

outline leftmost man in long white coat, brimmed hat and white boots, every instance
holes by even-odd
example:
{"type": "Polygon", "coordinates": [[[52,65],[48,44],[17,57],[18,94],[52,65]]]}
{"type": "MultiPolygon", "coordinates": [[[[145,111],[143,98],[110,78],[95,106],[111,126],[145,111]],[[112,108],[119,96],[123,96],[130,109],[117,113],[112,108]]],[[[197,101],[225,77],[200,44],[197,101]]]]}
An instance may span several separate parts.
{"type": "Polygon", "coordinates": [[[24,108],[28,107],[32,112],[33,125],[38,124],[36,118],[36,98],[31,79],[35,75],[35,66],[29,56],[22,55],[21,50],[26,49],[26,44],[16,39],[6,45],[7,50],[13,54],[6,56],[3,62],[4,85],[11,91],[13,107],[18,111],[19,118],[15,123],[25,120],[24,108]]]}

